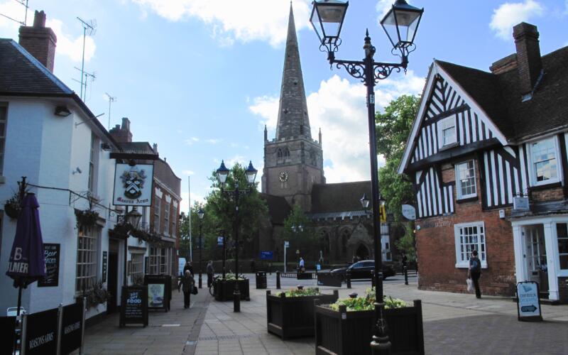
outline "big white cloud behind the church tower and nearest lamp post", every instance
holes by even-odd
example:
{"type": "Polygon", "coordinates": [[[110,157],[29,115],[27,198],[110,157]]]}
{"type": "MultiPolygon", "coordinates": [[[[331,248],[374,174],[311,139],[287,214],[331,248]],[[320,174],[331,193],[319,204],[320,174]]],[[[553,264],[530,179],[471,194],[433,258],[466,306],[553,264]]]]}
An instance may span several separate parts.
{"type": "MultiPolygon", "coordinates": [[[[393,74],[376,87],[376,109],[382,111],[401,94],[420,94],[424,78],[408,70],[393,74]]],[[[271,130],[275,129],[278,98],[257,97],[249,109],[271,130]]],[[[320,89],[307,97],[312,137],[322,128],[324,172],[327,182],[368,180],[371,176],[368,151],[366,88],[334,75],[322,81],[320,89]],[[329,163],[331,162],[331,163],[329,163]]],[[[379,157],[379,165],[384,160],[379,157]]]]}

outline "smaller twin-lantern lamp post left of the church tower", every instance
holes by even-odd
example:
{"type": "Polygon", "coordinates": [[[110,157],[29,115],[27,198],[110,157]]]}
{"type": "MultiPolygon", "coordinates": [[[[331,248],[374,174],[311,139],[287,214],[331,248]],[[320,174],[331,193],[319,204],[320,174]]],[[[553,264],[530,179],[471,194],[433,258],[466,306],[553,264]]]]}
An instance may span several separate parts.
{"type": "Polygon", "coordinates": [[[224,161],[221,161],[221,166],[217,169],[217,180],[221,192],[227,197],[231,198],[235,204],[235,221],[234,221],[234,234],[235,234],[235,288],[233,293],[233,312],[241,312],[241,293],[239,292],[239,197],[241,195],[248,195],[252,191],[254,180],[256,179],[256,170],[253,167],[252,161],[249,162],[249,167],[244,171],[246,175],[247,188],[246,190],[239,190],[239,177],[234,176],[235,188],[234,190],[225,190],[226,178],[229,176],[229,169],[226,168],[224,161]]]}

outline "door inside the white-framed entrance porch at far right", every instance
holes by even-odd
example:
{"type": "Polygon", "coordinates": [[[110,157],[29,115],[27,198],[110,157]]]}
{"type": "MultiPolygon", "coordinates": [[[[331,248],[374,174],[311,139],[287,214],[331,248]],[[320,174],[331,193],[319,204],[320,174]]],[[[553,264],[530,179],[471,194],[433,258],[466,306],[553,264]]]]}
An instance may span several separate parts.
{"type": "MultiPolygon", "coordinates": [[[[543,274],[547,273],[545,236],[542,225],[525,226],[525,260],[528,280],[542,283],[543,274]]],[[[542,288],[541,288],[542,289],[542,288]]]]}

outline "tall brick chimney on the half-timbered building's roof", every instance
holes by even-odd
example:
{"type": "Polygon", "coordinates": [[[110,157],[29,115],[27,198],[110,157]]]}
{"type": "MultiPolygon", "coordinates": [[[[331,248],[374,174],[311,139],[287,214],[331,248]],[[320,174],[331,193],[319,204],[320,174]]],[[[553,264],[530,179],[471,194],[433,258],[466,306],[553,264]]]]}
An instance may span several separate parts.
{"type": "Polygon", "coordinates": [[[517,47],[520,93],[530,94],[542,70],[537,26],[521,22],[513,27],[513,38],[517,47]]]}

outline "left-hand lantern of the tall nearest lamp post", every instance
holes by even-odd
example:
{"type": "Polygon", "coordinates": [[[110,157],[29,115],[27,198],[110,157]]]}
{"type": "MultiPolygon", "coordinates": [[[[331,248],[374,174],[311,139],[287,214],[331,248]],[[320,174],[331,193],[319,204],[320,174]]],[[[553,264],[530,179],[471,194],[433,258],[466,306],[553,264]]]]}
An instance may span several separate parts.
{"type": "Polygon", "coordinates": [[[344,3],[339,0],[320,0],[314,1],[313,4],[310,22],[322,45],[329,52],[334,52],[337,50],[337,46],[341,44],[339,33],[342,31],[349,1],[344,3]]]}

